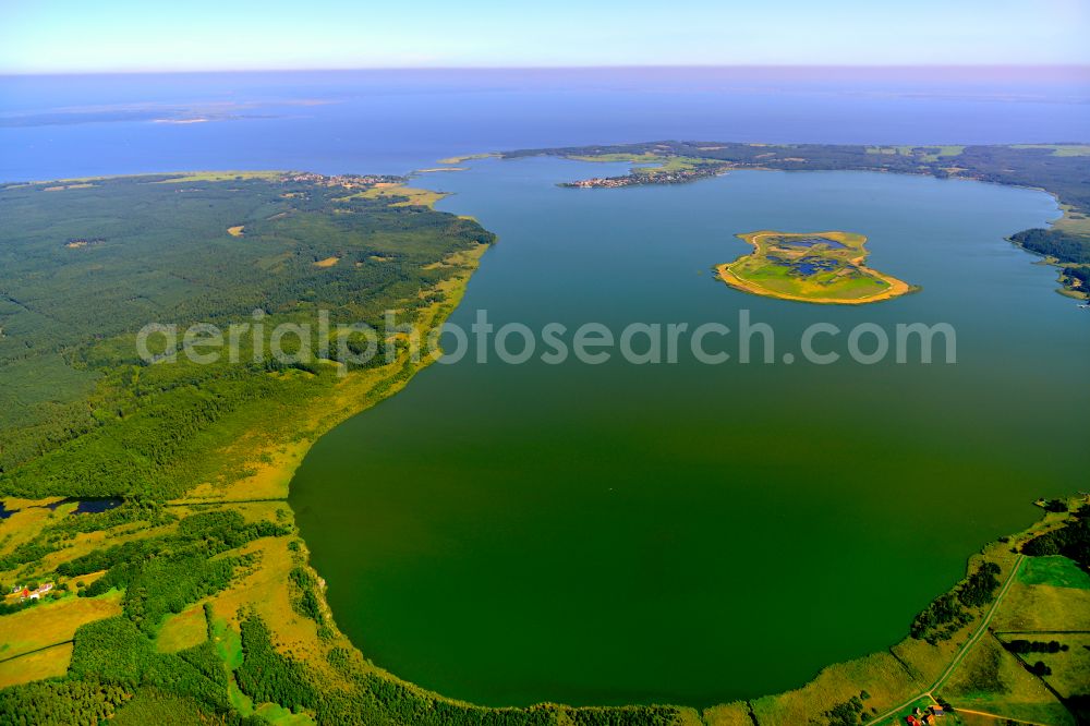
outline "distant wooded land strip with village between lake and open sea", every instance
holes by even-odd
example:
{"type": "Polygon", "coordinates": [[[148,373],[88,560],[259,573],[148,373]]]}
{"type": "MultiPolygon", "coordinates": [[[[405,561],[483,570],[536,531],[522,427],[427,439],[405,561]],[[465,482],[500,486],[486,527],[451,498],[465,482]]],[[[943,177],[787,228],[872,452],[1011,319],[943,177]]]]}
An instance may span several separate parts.
{"type": "Polygon", "coordinates": [[[1064,294],[1090,298],[1090,186],[1086,183],[1090,147],[1086,144],[865,146],[661,141],[520,149],[500,156],[558,156],[631,165],[627,174],[560,184],[573,189],[681,184],[735,169],[881,171],[1042,189],[1056,197],[1063,217],[1047,229],[1017,232],[1010,241],[1055,265],[1064,294]]]}

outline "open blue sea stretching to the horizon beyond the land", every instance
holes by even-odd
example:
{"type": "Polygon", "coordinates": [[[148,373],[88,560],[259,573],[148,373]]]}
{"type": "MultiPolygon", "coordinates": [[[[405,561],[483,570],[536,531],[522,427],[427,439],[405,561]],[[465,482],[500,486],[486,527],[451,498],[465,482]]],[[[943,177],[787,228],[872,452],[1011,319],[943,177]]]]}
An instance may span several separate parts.
{"type": "Polygon", "coordinates": [[[196,169],[404,173],[643,142],[1088,141],[1085,69],[568,69],[0,77],[0,181],[196,169]]]}

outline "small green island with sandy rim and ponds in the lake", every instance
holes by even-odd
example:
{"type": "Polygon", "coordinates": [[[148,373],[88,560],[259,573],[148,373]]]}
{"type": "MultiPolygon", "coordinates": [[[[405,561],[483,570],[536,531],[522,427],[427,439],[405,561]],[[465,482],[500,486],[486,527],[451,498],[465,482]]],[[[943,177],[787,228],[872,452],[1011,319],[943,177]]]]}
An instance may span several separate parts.
{"type": "Polygon", "coordinates": [[[912,288],[863,264],[867,238],[853,232],[738,234],[753,252],[716,267],[732,288],[800,302],[847,304],[897,298],[912,288]]]}

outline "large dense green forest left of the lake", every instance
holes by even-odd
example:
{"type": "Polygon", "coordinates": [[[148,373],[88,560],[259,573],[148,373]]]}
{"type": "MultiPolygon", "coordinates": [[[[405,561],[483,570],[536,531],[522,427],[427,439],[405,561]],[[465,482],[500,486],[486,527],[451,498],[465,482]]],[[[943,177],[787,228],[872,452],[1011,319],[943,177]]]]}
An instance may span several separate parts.
{"type": "Polygon", "coordinates": [[[435,302],[421,291],[458,271],[441,261],[492,241],[405,197],[294,179],[0,186],[0,493],[177,495],[211,427],[303,404],[334,377],[314,360],[277,375],[267,354],[149,366],[143,326],[226,329],[258,311],[270,330],[325,310],[382,330],[384,311],[435,302]]]}

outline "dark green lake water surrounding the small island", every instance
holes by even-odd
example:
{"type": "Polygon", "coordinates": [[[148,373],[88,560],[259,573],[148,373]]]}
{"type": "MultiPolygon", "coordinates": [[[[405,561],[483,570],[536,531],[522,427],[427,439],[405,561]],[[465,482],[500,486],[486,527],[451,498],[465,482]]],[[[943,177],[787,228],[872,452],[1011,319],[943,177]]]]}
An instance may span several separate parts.
{"type": "Polygon", "coordinates": [[[291,488],[375,663],[491,705],[782,691],[903,638],[1030,501],[1085,486],[1090,313],[1003,239],[1058,216],[1052,197],[860,172],[555,186],[622,169],[421,179],[500,238],[451,322],[735,328],[748,308],[777,359],[815,322],[947,322],[957,364],[431,366],[319,440],[291,488]],[[728,289],[711,268],[758,229],[861,232],[869,265],[923,290],[846,307],[728,289]]]}

